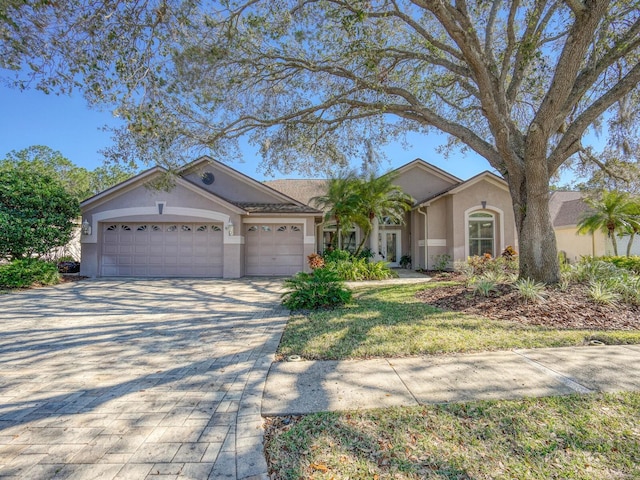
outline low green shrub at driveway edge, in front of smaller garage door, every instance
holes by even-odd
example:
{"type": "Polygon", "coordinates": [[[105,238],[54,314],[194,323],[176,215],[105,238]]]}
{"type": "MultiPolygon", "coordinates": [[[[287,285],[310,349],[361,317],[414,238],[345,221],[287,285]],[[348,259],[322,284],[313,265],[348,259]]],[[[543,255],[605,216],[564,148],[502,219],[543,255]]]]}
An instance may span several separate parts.
{"type": "Polygon", "coordinates": [[[331,308],[351,300],[351,290],[336,272],[326,268],[300,272],[285,280],[284,285],[288,290],[282,294],[282,304],[289,310],[331,308]]]}

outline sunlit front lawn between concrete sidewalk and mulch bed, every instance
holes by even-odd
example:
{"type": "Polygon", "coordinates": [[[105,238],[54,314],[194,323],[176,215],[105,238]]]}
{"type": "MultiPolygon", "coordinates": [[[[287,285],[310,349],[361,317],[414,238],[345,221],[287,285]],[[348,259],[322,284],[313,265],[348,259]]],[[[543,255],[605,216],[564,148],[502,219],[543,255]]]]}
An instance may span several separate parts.
{"type": "Polygon", "coordinates": [[[574,346],[594,338],[607,344],[640,343],[640,331],[563,330],[443,312],[415,298],[424,288],[362,287],[349,305],[293,315],[279,353],[340,360],[574,346]]]}

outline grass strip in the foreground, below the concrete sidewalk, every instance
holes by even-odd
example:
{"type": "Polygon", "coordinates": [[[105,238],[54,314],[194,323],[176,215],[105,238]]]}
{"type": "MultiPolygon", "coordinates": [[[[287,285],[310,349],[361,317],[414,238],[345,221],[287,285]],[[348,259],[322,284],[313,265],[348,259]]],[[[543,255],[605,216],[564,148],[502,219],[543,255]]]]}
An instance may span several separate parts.
{"type": "Polygon", "coordinates": [[[272,479],[640,478],[640,393],[271,420],[272,479]]]}

